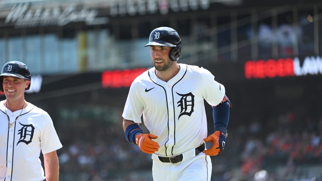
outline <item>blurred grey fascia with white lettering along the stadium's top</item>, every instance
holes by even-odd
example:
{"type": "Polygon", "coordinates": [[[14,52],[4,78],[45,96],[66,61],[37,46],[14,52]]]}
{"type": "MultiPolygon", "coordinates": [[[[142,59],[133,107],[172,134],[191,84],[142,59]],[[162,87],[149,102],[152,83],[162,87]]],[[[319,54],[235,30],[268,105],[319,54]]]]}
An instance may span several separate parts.
{"type": "Polygon", "coordinates": [[[242,0],[95,0],[46,3],[21,1],[16,4],[8,3],[6,6],[1,6],[0,3],[0,27],[64,26],[77,22],[86,25],[108,24],[110,18],[115,17],[204,11],[221,6],[238,6],[242,5],[242,2],[242,0]]]}

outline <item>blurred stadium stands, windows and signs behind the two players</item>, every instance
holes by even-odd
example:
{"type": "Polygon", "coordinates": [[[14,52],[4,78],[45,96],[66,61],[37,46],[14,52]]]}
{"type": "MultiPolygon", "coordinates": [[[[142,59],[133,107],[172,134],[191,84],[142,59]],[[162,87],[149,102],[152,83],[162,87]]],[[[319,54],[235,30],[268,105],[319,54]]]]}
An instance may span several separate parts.
{"type": "Polygon", "coordinates": [[[179,63],[210,70],[233,103],[213,181],[321,181],[320,0],[0,0],[0,64],[32,72],[26,100],[53,119],[61,181],[152,181],[121,114],[159,26],[180,34],[179,63]]]}

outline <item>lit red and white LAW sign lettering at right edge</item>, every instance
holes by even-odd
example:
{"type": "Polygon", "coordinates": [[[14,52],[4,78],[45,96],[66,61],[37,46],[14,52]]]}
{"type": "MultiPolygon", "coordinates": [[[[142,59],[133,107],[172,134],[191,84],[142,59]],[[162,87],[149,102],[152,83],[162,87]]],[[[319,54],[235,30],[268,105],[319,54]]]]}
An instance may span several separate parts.
{"type": "Polygon", "coordinates": [[[317,75],[322,74],[322,57],[305,57],[302,65],[298,57],[248,61],[244,69],[246,79],[317,75]]]}

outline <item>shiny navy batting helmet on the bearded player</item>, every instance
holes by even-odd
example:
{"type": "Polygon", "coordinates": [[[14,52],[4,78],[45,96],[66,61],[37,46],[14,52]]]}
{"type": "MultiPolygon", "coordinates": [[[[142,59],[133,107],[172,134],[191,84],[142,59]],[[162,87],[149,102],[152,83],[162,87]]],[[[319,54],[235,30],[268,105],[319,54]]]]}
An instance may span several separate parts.
{"type": "Polygon", "coordinates": [[[173,47],[169,54],[170,60],[178,61],[181,58],[181,39],[172,28],[159,27],[154,29],[150,33],[149,43],[145,47],[150,45],[173,47]]]}

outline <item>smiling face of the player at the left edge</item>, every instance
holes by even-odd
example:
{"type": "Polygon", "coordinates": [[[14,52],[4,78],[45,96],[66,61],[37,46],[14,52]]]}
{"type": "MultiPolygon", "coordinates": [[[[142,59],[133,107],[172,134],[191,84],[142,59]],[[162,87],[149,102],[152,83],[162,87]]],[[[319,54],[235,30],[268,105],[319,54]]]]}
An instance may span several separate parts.
{"type": "Polygon", "coordinates": [[[3,77],[3,89],[7,99],[24,99],[24,90],[30,84],[29,80],[13,76],[3,77]]]}

